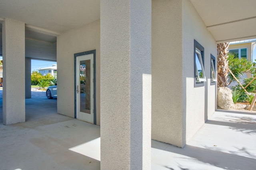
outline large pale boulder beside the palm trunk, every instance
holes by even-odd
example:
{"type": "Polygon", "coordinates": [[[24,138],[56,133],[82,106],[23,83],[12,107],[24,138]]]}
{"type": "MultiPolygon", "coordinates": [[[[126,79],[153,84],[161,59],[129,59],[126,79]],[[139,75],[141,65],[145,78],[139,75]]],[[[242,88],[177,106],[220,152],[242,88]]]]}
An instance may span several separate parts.
{"type": "Polygon", "coordinates": [[[235,107],[232,100],[232,90],[228,87],[219,87],[217,92],[217,104],[221,109],[226,110],[235,107]]]}

